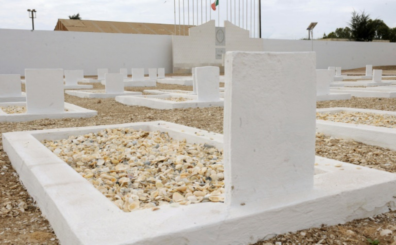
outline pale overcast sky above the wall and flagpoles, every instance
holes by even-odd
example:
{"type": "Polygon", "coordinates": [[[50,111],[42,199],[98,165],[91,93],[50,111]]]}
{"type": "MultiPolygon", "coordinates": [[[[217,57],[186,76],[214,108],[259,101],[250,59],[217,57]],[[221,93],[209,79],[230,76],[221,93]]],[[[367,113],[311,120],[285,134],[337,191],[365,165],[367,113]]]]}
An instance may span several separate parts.
{"type": "MultiPolygon", "coordinates": [[[[176,0],[176,4],[179,1],[182,8],[183,0],[176,0]]],[[[204,4],[208,3],[208,8],[205,6],[203,8],[204,22],[209,19],[209,11],[208,17],[205,13],[206,9],[209,10],[209,1],[211,3],[214,0],[202,0],[204,4]]],[[[246,0],[228,0],[229,8],[232,2],[232,22],[234,22],[234,1],[237,5],[240,2],[241,12],[244,2],[244,25],[246,25],[246,0]]],[[[173,24],[173,2],[174,0],[0,0],[0,28],[31,29],[32,23],[27,9],[33,8],[37,10],[37,18],[34,19],[36,30],[53,30],[57,19],[67,19],[68,15],[76,13],[80,13],[82,19],[89,20],[173,24]]],[[[196,24],[197,1],[189,0],[190,24],[192,24],[192,2],[194,2],[194,24],[196,24]]],[[[227,19],[227,0],[219,0],[219,2],[222,23],[227,19]]],[[[184,3],[187,24],[188,0],[184,0],[184,3]]],[[[263,38],[304,38],[308,36],[306,29],[311,22],[318,22],[314,29],[314,37],[321,37],[323,33],[327,34],[337,27],[345,27],[353,10],[365,10],[372,18],[382,19],[389,27],[396,27],[396,0],[262,0],[261,4],[263,38]]],[[[200,10],[201,7],[199,6],[198,9],[200,10]]],[[[176,11],[178,14],[179,10],[176,11]]],[[[217,14],[218,11],[211,11],[212,19],[215,18],[217,21],[217,14]]],[[[198,23],[201,23],[201,11],[198,17],[198,23]]],[[[242,18],[242,13],[240,17],[242,18]]],[[[177,21],[178,18],[177,16],[177,21]]],[[[238,18],[236,22],[238,25],[238,18]]],[[[247,22],[250,25],[250,0],[247,22]]],[[[183,11],[181,23],[183,24],[183,11]]],[[[240,25],[242,26],[242,20],[240,25]]],[[[250,27],[248,26],[247,29],[250,27]]]]}

